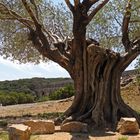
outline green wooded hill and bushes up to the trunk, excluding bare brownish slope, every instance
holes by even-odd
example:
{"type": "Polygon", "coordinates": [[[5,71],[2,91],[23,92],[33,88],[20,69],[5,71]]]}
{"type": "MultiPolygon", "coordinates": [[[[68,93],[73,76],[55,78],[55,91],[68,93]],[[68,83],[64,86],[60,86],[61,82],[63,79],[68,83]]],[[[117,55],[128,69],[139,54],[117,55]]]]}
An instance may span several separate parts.
{"type": "Polygon", "coordinates": [[[57,89],[47,96],[37,96],[34,91],[34,89],[41,89],[48,84],[57,84],[67,79],[68,78],[33,78],[0,82],[0,104],[25,104],[71,97],[74,95],[74,88],[71,83],[66,84],[64,87],[57,89]]]}

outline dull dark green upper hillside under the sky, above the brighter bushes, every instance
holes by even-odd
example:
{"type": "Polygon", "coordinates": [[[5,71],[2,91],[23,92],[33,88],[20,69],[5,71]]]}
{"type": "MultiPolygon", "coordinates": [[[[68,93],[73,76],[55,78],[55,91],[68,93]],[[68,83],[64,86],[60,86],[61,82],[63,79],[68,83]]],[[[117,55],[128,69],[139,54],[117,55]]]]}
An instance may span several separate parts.
{"type": "Polygon", "coordinates": [[[57,82],[63,82],[69,80],[69,78],[32,78],[32,79],[20,79],[13,81],[0,81],[0,91],[9,92],[24,92],[35,94],[36,89],[42,89],[51,84],[56,84],[57,82]]]}

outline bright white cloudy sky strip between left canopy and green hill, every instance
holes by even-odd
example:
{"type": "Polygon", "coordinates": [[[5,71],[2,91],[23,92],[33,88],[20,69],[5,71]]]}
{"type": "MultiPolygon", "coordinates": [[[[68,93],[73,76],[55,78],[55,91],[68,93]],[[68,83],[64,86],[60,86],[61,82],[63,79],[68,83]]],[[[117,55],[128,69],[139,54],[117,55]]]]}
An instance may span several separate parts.
{"type": "Polygon", "coordinates": [[[33,64],[18,64],[0,57],[0,81],[32,77],[69,77],[69,74],[54,62],[33,64]]]}

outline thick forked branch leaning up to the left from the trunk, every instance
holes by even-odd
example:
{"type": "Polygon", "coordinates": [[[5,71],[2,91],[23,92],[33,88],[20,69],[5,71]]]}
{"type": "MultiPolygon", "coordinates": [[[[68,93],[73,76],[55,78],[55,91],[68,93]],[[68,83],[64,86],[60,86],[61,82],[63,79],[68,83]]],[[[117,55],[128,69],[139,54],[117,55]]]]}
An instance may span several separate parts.
{"type": "MultiPolygon", "coordinates": [[[[40,25],[38,22],[38,19],[34,16],[33,11],[29,7],[26,0],[22,0],[23,4],[29,13],[32,20],[28,20],[17,14],[16,12],[8,9],[4,4],[0,3],[0,13],[1,10],[4,9],[6,11],[6,14],[8,14],[9,17],[7,19],[9,20],[18,20],[20,23],[23,23],[26,25],[26,27],[30,30],[30,40],[33,42],[34,47],[42,54],[44,57],[49,58],[50,60],[57,62],[59,65],[64,67],[69,73],[71,72],[71,63],[70,60],[62,55],[58,49],[51,49],[50,44],[47,40],[46,35],[44,32],[46,31],[43,26],[40,25]],[[32,28],[32,26],[35,26],[36,29],[32,28]]],[[[47,31],[46,31],[47,32],[47,31]]],[[[49,34],[47,32],[47,34],[49,34]]]]}

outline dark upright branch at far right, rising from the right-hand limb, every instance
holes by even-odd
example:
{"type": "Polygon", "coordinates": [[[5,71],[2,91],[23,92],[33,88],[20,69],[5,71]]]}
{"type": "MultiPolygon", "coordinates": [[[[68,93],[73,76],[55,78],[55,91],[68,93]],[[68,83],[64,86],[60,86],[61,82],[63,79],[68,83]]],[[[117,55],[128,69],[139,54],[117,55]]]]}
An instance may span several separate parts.
{"type": "Polygon", "coordinates": [[[130,50],[130,44],[131,44],[131,41],[129,39],[130,18],[131,18],[131,0],[129,0],[127,3],[126,9],[125,9],[125,15],[123,18],[123,23],[122,23],[122,43],[125,47],[126,52],[130,50]]]}

